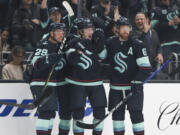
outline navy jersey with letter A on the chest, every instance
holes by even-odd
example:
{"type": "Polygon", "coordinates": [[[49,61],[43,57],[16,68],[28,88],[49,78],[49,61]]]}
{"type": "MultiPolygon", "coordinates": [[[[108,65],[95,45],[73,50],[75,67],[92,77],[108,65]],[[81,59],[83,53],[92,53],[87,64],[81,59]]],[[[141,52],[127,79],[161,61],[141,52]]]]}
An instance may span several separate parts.
{"type": "Polygon", "coordinates": [[[122,42],[118,37],[112,37],[106,48],[111,66],[111,89],[128,90],[132,80],[143,82],[149,76],[151,65],[142,41],[128,39],[122,42]]]}

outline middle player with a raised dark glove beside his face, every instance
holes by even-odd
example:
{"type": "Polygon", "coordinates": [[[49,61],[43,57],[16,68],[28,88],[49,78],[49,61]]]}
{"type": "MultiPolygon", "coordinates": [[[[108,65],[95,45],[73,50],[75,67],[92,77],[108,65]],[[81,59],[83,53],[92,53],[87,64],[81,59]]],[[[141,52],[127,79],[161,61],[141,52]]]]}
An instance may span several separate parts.
{"type": "MultiPolygon", "coordinates": [[[[66,57],[69,72],[66,81],[70,83],[70,108],[73,112],[74,135],[83,135],[84,130],[77,127],[76,121],[84,117],[86,98],[90,100],[93,108],[93,122],[105,116],[107,100],[103,81],[99,73],[99,57],[103,57],[104,35],[101,30],[94,31],[90,19],[79,19],[78,32],[80,38],[68,42],[66,57]]],[[[100,135],[103,123],[93,130],[93,135],[100,135]]]]}

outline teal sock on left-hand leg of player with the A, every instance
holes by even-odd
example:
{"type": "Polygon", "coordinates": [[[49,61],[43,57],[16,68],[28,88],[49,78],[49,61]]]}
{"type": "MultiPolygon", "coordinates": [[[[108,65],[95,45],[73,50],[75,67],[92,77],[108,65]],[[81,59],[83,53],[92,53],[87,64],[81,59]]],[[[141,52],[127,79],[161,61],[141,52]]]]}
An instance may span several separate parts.
{"type": "Polygon", "coordinates": [[[124,121],[113,120],[114,135],[124,135],[125,125],[124,121]]]}

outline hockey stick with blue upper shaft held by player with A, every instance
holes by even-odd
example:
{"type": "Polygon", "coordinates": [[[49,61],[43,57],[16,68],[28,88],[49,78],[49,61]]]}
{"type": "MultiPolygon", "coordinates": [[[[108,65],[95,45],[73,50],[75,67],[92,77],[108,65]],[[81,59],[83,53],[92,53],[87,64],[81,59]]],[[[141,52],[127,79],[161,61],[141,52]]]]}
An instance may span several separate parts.
{"type": "MultiPolygon", "coordinates": [[[[142,84],[146,83],[147,81],[151,80],[157,73],[161,71],[162,68],[164,68],[171,60],[167,60],[159,69],[157,69],[152,75],[150,75],[142,84]]],[[[84,129],[94,129],[97,125],[99,125],[101,122],[103,122],[110,114],[112,114],[114,111],[116,111],[122,104],[124,104],[130,97],[132,97],[132,92],[127,95],[126,98],[124,98],[122,101],[120,101],[112,110],[110,110],[103,119],[99,120],[95,124],[88,124],[81,121],[77,121],[76,125],[80,128],[84,129]]]]}

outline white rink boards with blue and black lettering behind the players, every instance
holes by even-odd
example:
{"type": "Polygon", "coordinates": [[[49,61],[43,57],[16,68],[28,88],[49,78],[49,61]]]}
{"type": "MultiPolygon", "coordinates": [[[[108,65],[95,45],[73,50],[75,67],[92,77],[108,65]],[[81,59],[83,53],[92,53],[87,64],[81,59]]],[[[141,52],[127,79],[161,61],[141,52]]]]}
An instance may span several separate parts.
{"type": "MultiPolygon", "coordinates": [[[[104,84],[108,96],[109,85],[104,84]]],[[[179,135],[180,133],[180,84],[148,83],[144,89],[144,116],[146,135],[179,135]]],[[[32,102],[29,85],[25,83],[0,83],[0,100],[17,103],[32,102]]],[[[31,110],[0,106],[1,135],[36,135],[37,117],[30,118],[31,110]]],[[[92,109],[87,102],[85,121],[91,123],[92,109]]],[[[58,116],[52,135],[58,134],[58,116]]],[[[126,135],[133,135],[128,112],[126,113],[126,135]]],[[[72,131],[70,132],[72,134],[72,131]]],[[[91,135],[85,130],[85,135],[91,135]]],[[[105,120],[103,135],[113,135],[111,117],[105,120]]]]}

